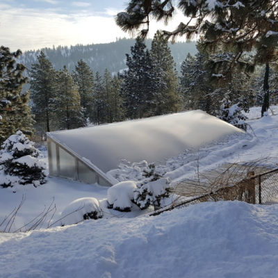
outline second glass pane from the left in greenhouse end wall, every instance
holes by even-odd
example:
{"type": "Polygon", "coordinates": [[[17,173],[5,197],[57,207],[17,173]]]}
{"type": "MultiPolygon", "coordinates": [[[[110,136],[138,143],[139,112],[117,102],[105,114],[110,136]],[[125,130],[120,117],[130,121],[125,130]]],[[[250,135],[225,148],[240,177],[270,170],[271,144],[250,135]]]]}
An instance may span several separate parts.
{"type": "Polygon", "coordinates": [[[75,158],[59,147],[60,176],[75,179],[75,158]]]}

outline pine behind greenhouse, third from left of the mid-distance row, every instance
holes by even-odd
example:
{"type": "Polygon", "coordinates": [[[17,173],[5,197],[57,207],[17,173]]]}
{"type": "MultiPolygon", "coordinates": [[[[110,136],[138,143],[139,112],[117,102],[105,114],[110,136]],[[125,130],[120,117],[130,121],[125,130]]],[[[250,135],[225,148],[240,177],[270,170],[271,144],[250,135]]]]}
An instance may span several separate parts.
{"type": "Polygon", "coordinates": [[[92,115],[95,76],[83,60],[77,63],[73,76],[74,82],[79,87],[80,103],[81,107],[84,108],[84,116],[88,118],[92,115]]]}

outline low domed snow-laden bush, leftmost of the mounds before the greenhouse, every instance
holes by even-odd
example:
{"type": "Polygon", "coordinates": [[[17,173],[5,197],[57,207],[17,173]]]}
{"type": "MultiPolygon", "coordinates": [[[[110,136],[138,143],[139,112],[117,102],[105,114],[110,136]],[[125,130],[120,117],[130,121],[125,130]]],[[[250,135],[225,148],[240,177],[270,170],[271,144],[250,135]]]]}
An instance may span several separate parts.
{"type": "Polygon", "coordinates": [[[72,225],[83,220],[97,220],[103,214],[99,206],[99,201],[95,198],[76,199],[68,204],[62,211],[60,224],[62,226],[72,225]]]}

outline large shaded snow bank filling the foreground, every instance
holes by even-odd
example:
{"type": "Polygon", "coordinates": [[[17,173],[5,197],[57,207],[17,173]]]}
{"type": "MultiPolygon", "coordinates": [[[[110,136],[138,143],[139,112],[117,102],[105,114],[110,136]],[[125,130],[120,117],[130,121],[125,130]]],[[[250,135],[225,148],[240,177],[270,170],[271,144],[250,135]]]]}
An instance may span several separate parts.
{"type": "Polygon", "coordinates": [[[203,203],[0,234],[0,277],[277,278],[278,206],[203,203]]]}

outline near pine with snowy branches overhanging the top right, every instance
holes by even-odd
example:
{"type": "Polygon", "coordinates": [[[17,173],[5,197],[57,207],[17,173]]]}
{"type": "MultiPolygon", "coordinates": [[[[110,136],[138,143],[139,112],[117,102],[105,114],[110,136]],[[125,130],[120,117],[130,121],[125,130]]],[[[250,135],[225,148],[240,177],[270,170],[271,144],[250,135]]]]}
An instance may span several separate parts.
{"type": "MultiPolygon", "coordinates": [[[[277,60],[277,2],[273,0],[179,0],[174,6],[172,0],[130,0],[126,12],[118,13],[117,25],[123,31],[138,31],[140,37],[146,38],[149,32],[149,18],[167,24],[179,9],[185,16],[186,23],[181,22],[174,31],[162,31],[165,38],[174,41],[178,35],[185,35],[188,40],[202,38],[202,48],[212,54],[219,48],[231,51],[232,60],[222,60],[220,67],[224,72],[215,72],[218,78],[231,73],[234,68],[253,72],[255,65],[265,65],[263,110],[268,106],[268,70],[270,63],[277,60]],[[194,22],[194,23],[193,23],[194,22]],[[253,52],[250,61],[241,58],[247,52],[253,52]]],[[[229,82],[229,81],[228,81],[229,82]]]]}

